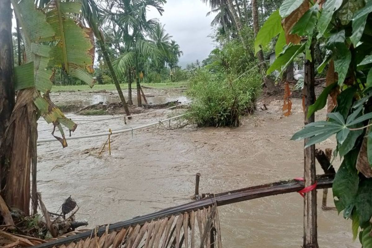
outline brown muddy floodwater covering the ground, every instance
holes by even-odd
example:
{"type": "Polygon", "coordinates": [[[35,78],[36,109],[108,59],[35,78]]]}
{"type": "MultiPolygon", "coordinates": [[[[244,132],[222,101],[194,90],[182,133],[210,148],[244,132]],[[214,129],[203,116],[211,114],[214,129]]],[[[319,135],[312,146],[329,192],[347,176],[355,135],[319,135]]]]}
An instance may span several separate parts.
{"type": "MultiPolygon", "coordinates": [[[[54,97],[68,101],[68,94],[54,97]]],[[[94,228],[190,202],[195,173],[201,173],[199,191],[203,193],[302,176],[303,142],[289,140],[303,125],[302,104],[298,99],[292,102],[289,117],[282,115],[282,102],[274,101],[267,104],[268,110],[244,117],[239,128],[175,129],[167,124],[114,135],[111,156],[107,148],[99,155],[107,136],[70,140],[64,149],[58,142],[38,144],[38,190],[52,212],[71,195],[80,206],[78,219],[94,228]]],[[[78,126],[73,135],[140,126],[183,111],[136,117],[127,120],[127,125],[120,118],[93,122],[78,126]]],[[[103,118],[68,116],[81,124],[89,118],[103,118]]],[[[325,112],[316,115],[316,119],[324,117],[325,112]]],[[[49,131],[41,131],[48,128],[44,120],[39,121],[39,138],[51,137],[49,131]]],[[[334,146],[334,139],[328,139],[318,147],[334,146]]],[[[322,173],[318,164],[317,172],[322,173]]],[[[318,190],[318,204],[321,196],[318,190]]],[[[334,206],[331,190],[328,206],[334,206]]],[[[221,206],[218,212],[224,247],[302,245],[303,199],[298,193],[221,206]]],[[[318,240],[320,247],[360,247],[352,241],[351,221],[336,211],[321,210],[320,205],[318,240]]]]}

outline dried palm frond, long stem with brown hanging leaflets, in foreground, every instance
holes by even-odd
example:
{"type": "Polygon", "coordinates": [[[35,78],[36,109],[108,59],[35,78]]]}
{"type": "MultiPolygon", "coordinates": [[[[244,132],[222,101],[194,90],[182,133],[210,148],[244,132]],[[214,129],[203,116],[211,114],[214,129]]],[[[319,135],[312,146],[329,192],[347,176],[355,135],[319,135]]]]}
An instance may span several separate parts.
{"type": "MultiPolygon", "coordinates": [[[[332,187],[334,175],[318,175],[317,189],[332,187]]],[[[214,194],[194,202],[117,222],[71,236],[48,240],[49,247],[218,247],[222,246],[217,206],[302,190],[304,182],[289,180],[214,194]],[[195,228],[195,224],[198,228],[195,228]],[[199,229],[199,232],[196,231],[199,229]],[[189,232],[190,231],[190,232],[189,232]],[[195,246],[195,240],[198,245],[195,246]],[[199,242],[200,241],[200,242],[199,242]],[[190,246],[189,246],[190,245],[190,246]]]]}

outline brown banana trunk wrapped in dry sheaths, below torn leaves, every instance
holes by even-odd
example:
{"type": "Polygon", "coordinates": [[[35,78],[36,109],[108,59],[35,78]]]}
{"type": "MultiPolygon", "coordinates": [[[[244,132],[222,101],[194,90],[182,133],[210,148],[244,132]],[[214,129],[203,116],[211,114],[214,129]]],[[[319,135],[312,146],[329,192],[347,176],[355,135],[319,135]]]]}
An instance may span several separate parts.
{"type": "Polygon", "coordinates": [[[5,154],[9,159],[5,201],[26,215],[30,213],[31,159],[36,162],[38,136],[34,95],[33,87],[19,91],[4,140],[5,154]]]}

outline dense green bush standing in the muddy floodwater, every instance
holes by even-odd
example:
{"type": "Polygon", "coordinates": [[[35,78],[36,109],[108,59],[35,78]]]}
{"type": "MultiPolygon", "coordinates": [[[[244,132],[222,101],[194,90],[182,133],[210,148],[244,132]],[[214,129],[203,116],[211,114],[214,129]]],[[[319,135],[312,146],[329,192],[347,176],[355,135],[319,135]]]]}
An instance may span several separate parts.
{"type": "Polygon", "coordinates": [[[193,102],[186,118],[198,126],[239,126],[239,116],[255,109],[261,84],[255,68],[240,75],[199,69],[187,92],[193,102]]]}

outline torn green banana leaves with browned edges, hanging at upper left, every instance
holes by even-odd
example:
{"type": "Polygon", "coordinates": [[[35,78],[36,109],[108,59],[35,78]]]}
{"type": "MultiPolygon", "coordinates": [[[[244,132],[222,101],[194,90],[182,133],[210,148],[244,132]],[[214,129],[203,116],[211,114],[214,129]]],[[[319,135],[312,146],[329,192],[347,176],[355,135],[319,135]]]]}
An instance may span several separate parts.
{"type": "Polygon", "coordinates": [[[93,87],[94,39],[93,32],[85,28],[78,15],[81,3],[52,0],[44,9],[36,9],[32,0],[12,0],[15,15],[22,27],[26,44],[27,63],[15,68],[15,88],[35,88],[34,103],[48,123],[58,127],[67,146],[61,124],[71,131],[77,125],[67,119],[51,102],[55,67],[62,67],[93,87]]]}

